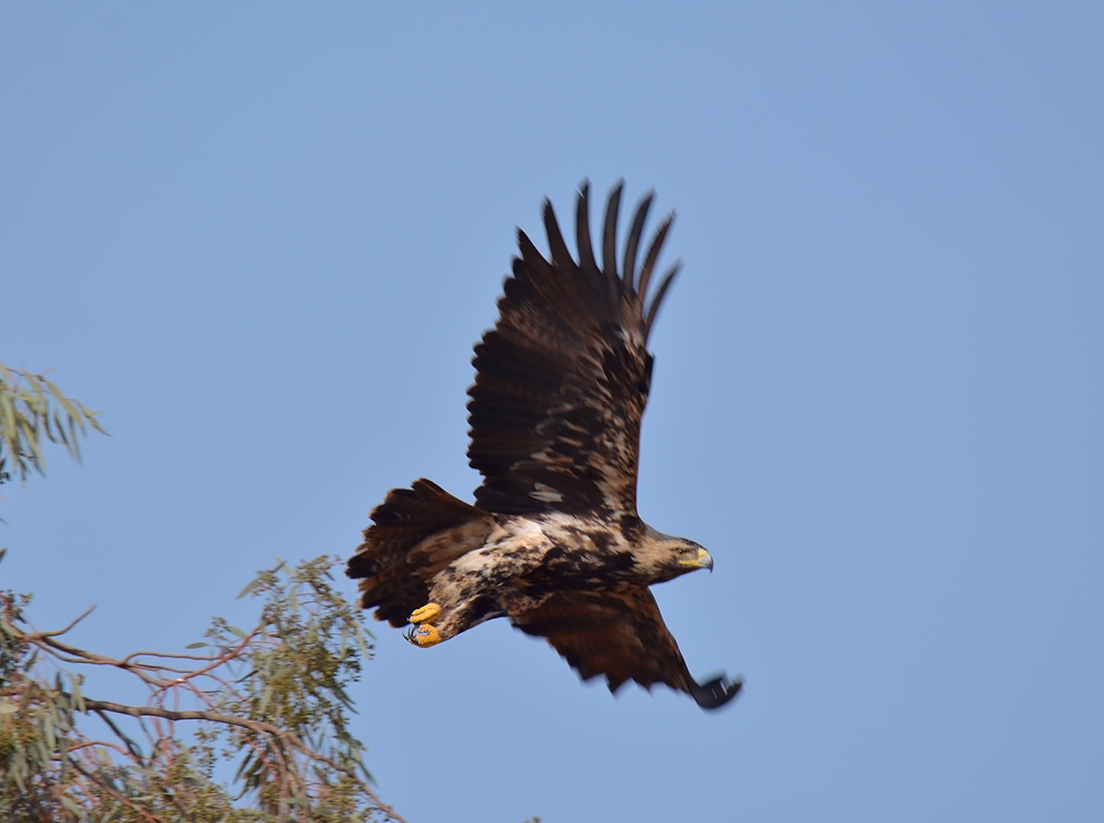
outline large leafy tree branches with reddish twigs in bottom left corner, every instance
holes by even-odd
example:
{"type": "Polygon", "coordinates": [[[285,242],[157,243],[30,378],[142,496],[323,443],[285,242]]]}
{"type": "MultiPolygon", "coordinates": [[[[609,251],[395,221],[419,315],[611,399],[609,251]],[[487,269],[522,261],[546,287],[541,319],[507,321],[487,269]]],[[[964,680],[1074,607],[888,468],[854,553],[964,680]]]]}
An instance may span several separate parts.
{"type": "Polygon", "coordinates": [[[402,823],[348,728],[371,646],[338,562],[262,571],[242,592],[262,600],[256,626],[214,619],[191,646],[206,654],[77,649],[60,638],[88,612],[33,631],[30,598],[0,591],[0,820],[402,823]],[[85,694],[96,666],[138,678],[147,703],[85,694]]]}

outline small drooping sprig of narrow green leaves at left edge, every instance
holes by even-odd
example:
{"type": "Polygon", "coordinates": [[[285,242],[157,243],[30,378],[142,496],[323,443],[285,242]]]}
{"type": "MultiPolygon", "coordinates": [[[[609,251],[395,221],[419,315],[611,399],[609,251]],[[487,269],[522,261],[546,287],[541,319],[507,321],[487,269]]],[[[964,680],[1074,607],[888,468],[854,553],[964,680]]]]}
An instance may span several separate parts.
{"type": "Polygon", "coordinates": [[[88,427],[107,434],[96,421],[98,414],[66,397],[44,375],[0,362],[0,482],[10,480],[12,472],[20,480],[26,480],[32,469],[45,474],[45,440],[61,443],[79,460],[79,440],[88,427]]]}

